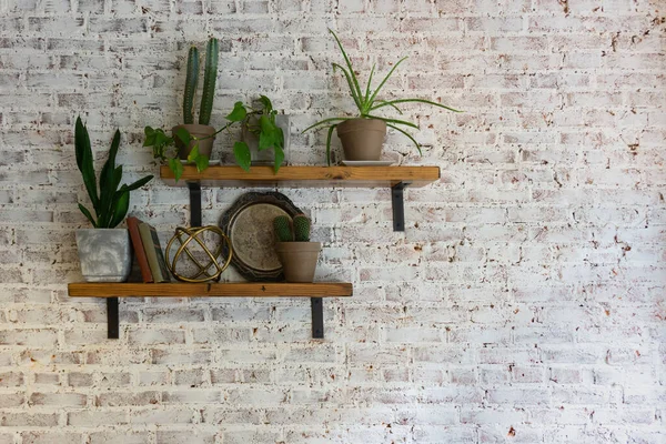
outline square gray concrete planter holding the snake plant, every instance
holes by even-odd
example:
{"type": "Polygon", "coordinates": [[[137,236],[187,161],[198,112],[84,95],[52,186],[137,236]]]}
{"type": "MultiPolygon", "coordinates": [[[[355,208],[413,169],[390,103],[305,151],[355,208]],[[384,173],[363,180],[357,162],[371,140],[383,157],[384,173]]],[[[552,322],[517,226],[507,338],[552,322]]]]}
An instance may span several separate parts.
{"type": "Polygon", "coordinates": [[[124,282],[132,270],[127,229],[77,230],[81,272],[87,282],[124,282]]]}

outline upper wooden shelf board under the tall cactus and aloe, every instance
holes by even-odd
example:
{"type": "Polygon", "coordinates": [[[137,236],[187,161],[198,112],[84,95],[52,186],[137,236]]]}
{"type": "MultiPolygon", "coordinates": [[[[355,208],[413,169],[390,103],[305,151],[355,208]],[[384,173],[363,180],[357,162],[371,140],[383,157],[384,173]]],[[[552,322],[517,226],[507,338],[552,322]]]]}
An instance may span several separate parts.
{"type": "Polygon", "coordinates": [[[185,181],[204,185],[226,186],[393,186],[401,182],[410,186],[424,186],[440,179],[440,167],[252,167],[249,172],[236,165],[211,165],[198,172],[185,165],[178,184],[167,165],[160,168],[161,178],[171,185],[185,185],[185,181]]]}

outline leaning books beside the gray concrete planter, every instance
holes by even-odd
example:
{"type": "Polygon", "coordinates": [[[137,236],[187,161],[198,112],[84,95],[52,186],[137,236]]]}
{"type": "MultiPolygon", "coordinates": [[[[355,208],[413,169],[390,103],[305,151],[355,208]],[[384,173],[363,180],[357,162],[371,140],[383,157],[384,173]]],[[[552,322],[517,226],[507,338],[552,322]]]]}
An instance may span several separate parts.
{"type": "Polygon", "coordinates": [[[171,282],[171,273],[167,268],[154,226],[130,216],[128,218],[128,229],[143,282],[171,282]]]}

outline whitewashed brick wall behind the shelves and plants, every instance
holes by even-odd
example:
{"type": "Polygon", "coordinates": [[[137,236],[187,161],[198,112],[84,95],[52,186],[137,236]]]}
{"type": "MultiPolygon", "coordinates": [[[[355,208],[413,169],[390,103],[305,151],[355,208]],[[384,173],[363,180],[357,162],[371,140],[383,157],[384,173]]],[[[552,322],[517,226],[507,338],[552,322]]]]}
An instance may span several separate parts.
{"type": "MultiPolygon", "coordinates": [[[[660,443],[666,440],[663,2],[647,0],[0,0],[0,443],[660,443]],[[660,4],[659,4],[660,3],[660,4]],[[268,93],[300,131],[351,110],[330,27],[387,94],[420,107],[416,155],[442,180],[406,192],[285,190],[325,242],[310,340],[300,300],[70,300],[85,226],[72,128],[98,159],[158,173],[145,124],[180,122],[190,42],[221,39],[214,123],[268,93]]],[[[336,145],[337,150],[337,145],[336,145]]],[[[215,157],[229,161],[229,140],[215,157]]],[[[216,223],[244,190],[204,191],[216,223]]],[[[183,190],[132,212],[168,238],[183,190]]],[[[234,279],[233,273],[226,273],[234,279]]]]}

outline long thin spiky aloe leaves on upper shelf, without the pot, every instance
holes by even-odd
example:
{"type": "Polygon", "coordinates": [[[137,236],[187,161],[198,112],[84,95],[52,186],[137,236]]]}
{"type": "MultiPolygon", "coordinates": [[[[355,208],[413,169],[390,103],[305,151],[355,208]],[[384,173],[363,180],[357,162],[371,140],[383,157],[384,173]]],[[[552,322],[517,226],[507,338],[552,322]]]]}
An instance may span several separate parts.
{"type": "Polygon", "coordinates": [[[406,130],[397,127],[397,125],[403,125],[403,127],[418,129],[418,125],[416,125],[415,123],[412,123],[412,122],[404,121],[404,120],[389,119],[389,118],[380,117],[380,115],[376,115],[374,113],[374,111],[377,111],[384,107],[391,107],[392,109],[397,111],[400,114],[402,114],[403,112],[397,107],[398,104],[417,102],[417,103],[426,103],[426,104],[431,104],[434,107],[443,108],[448,111],[462,112],[462,111],[455,110],[453,108],[443,105],[441,103],[432,102],[432,101],[425,100],[425,99],[397,99],[397,100],[380,100],[380,99],[377,99],[377,93],[380,92],[380,90],[384,87],[384,84],[391,78],[391,75],[393,75],[393,72],[395,71],[395,69],[407,58],[403,57],[402,59],[400,59],[397,61],[397,63],[395,63],[393,65],[393,68],[391,68],[391,70],[386,74],[386,77],[384,77],[384,79],[380,82],[380,84],[374,90],[372,89],[372,77],[374,74],[375,65],[373,65],[372,70],[370,71],[367,84],[364,89],[362,89],[361,84],[359,83],[359,79],[354,71],[354,68],[352,67],[352,62],[351,62],[350,58],[347,57],[347,53],[345,52],[344,48],[342,47],[340,39],[335,34],[335,32],[333,32],[331,29],[329,29],[329,31],[335,38],[335,42],[337,43],[337,48],[340,48],[340,52],[342,52],[342,57],[344,58],[344,62],[346,65],[346,68],[345,68],[339,63],[332,63],[333,71],[335,72],[336,69],[342,71],[342,73],[344,74],[344,78],[347,82],[347,85],[350,88],[350,94],[352,95],[352,99],[354,100],[354,103],[356,104],[356,108],[359,109],[359,114],[356,117],[324,119],[324,120],[321,120],[321,121],[314,123],[313,125],[307,127],[305,130],[303,130],[303,132],[305,132],[305,131],[309,131],[314,128],[319,128],[319,129],[329,128],[329,133],[326,137],[326,160],[329,162],[329,165],[331,165],[331,138],[333,135],[333,130],[340,123],[344,122],[345,120],[359,119],[359,118],[383,120],[386,123],[386,127],[392,128],[392,129],[403,133],[404,135],[406,135],[414,143],[414,145],[418,150],[418,153],[421,154],[421,145],[418,144],[418,142],[416,142],[414,137],[412,134],[410,134],[406,130]]]}

